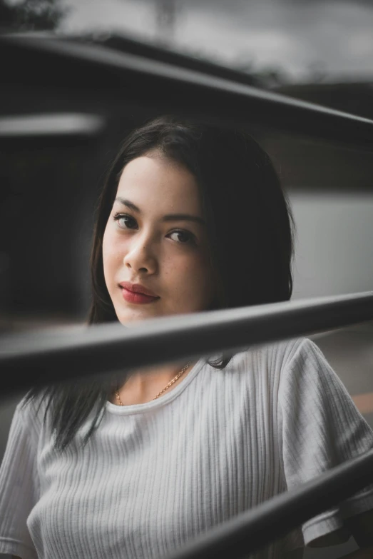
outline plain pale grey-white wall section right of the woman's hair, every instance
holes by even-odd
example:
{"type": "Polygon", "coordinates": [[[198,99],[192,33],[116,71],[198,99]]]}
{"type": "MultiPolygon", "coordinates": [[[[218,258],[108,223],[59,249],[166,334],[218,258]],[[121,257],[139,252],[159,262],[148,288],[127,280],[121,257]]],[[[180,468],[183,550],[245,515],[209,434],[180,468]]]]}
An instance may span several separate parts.
{"type": "Polygon", "coordinates": [[[293,298],[373,291],[373,192],[290,193],[293,298]]]}

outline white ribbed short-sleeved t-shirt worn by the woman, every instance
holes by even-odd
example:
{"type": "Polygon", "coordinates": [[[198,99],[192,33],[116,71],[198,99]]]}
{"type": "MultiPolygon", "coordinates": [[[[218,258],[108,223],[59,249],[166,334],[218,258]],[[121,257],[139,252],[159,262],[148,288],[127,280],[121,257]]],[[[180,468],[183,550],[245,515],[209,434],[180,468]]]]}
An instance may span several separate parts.
{"type": "MultiPolygon", "coordinates": [[[[17,406],[0,470],[0,553],[22,559],[155,559],[272,496],[373,448],[373,433],[307,338],[201,358],[178,386],[134,406],[106,404],[63,453],[44,411],[17,406]]],[[[268,545],[285,558],[373,489],[268,545]]]]}

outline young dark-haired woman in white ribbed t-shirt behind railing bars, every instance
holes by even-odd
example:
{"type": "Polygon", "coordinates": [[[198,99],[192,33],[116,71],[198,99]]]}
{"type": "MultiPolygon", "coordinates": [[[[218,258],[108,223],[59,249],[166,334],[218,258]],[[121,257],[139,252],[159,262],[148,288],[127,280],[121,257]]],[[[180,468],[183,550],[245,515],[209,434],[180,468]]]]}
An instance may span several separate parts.
{"type": "MultiPolygon", "coordinates": [[[[249,136],[155,119],[128,136],[101,195],[90,322],[285,301],[291,223],[249,136]]],[[[305,338],[31,391],[0,472],[0,553],[163,558],[372,445],[305,338]]],[[[350,533],[367,547],[372,508],[367,488],[255,557],[350,533]]]]}

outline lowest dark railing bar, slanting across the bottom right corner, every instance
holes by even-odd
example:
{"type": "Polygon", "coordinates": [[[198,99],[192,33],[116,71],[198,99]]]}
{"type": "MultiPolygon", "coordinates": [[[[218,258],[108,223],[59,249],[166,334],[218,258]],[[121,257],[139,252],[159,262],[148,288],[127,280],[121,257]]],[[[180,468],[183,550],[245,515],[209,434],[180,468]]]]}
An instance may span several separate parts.
{"type": "MultiPolygon", "coordinates": [[[[239,559],[373,482],[373,450],[215,526],[168,559],[239,559]]],[[[373,488],[371,488],[373,490],[373,488]]],[[[164,559],[164,557],[163,557],[164,559]]]]}

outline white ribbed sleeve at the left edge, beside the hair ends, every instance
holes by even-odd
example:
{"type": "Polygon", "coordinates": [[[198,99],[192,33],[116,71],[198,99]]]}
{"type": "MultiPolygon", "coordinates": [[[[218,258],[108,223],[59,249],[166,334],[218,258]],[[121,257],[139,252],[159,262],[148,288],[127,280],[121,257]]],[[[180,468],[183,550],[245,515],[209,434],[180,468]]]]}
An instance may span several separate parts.
{"type": "Polygon", "coordinates": [[[0,468],[0,553],[37,559],[26,525],[39,496],[35,418],[22,403],[16,407],[0,468]]]}

